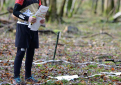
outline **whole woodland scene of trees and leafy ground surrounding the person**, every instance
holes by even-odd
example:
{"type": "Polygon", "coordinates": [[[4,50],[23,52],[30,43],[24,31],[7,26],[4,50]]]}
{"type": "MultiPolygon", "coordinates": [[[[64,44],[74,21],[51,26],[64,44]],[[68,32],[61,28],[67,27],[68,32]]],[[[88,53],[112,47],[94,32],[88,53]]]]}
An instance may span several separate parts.
{"type": "MultiPolygon", "coordinates": [[[[0,0],[0,85],[12,84],[17,22],[12,15],[14,4],[15,0],[0,0]]],[[[42,5],[49,10],[46,27],[39,28],[40,48],[35,51],[32,67],[38,85],[120,85],[121,1],[42,0],[42,5]],[[61,37],[52,63],[49,60],[53,59],[58,32],[61,37]],[[65,75],[79,78],[52,78],[65,75]]]]}

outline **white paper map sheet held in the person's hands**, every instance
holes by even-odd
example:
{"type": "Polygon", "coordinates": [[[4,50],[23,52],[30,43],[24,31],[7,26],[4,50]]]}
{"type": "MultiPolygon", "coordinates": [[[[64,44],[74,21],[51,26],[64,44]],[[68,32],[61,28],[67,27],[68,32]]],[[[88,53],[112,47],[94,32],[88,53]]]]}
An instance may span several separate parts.
{"type": "Polygon", "coordinates": [[[37,31],[41,25],[44,23],[41,23],[40,21],[45,18],[45,15],[48,11],[49,7],[41,5],[38,11],[35,13],[36,16],[36,22],[34,24],[29,23],[30,30],[37,31]]]}

